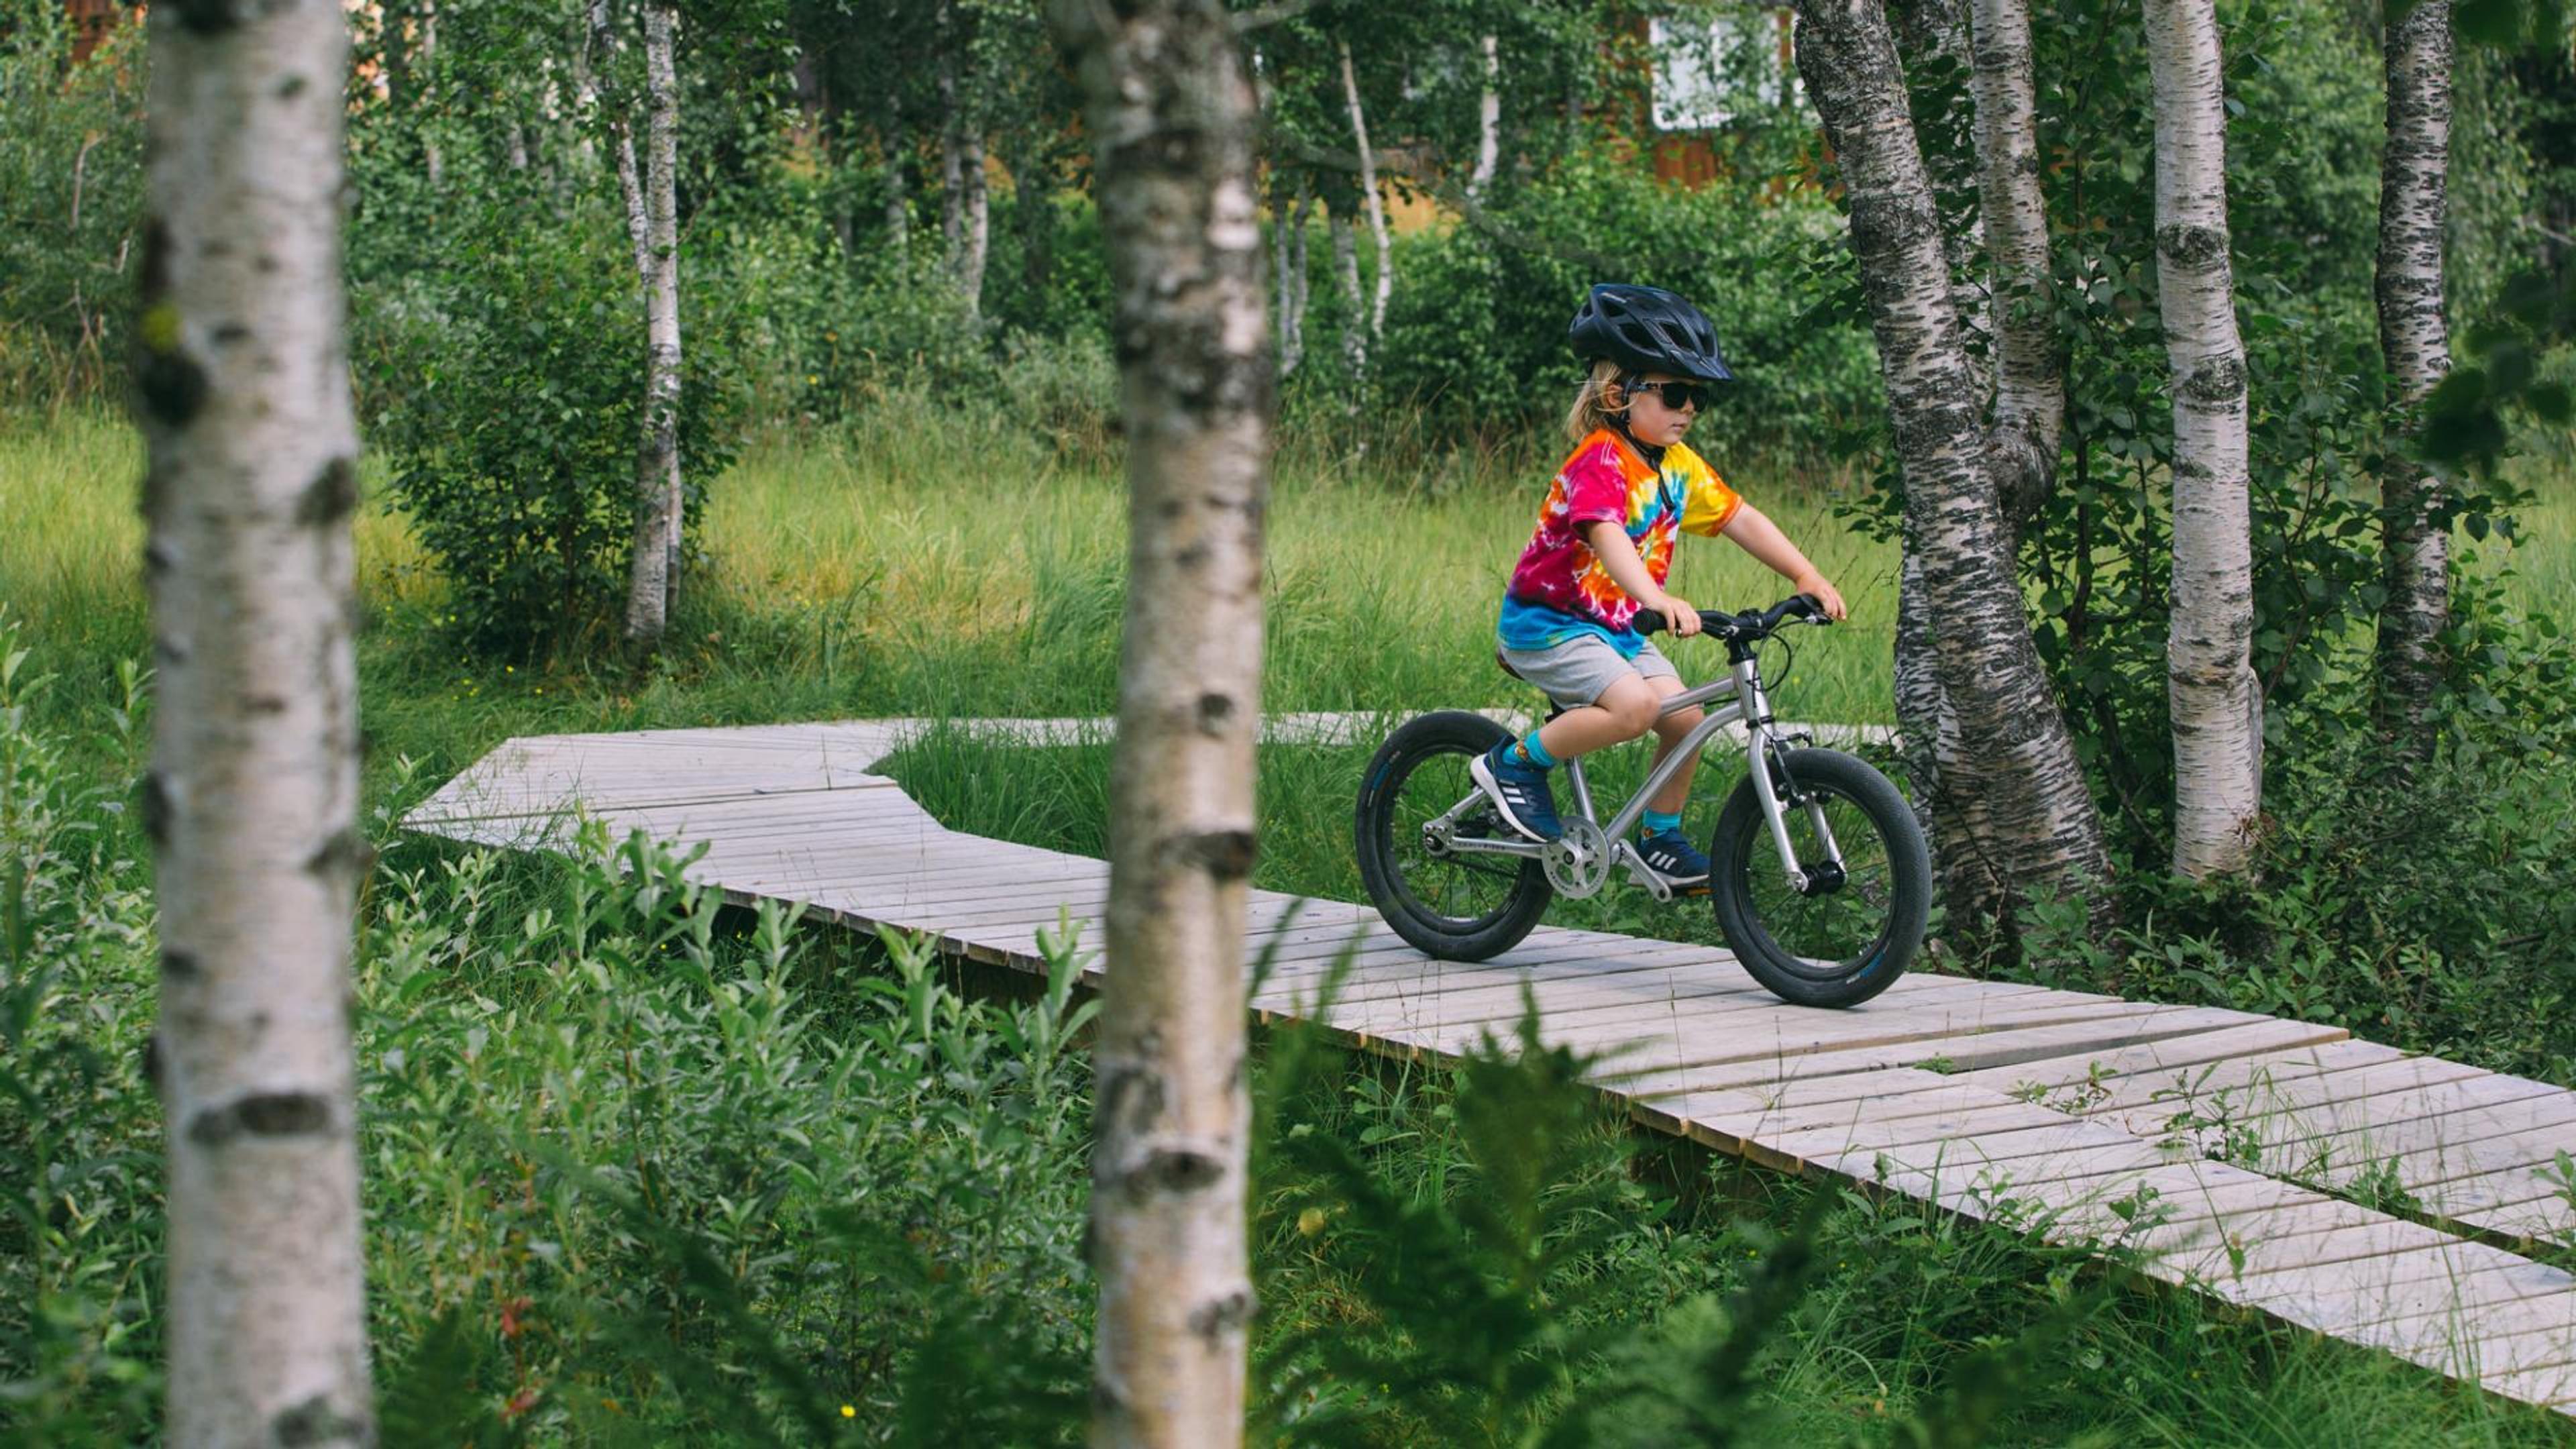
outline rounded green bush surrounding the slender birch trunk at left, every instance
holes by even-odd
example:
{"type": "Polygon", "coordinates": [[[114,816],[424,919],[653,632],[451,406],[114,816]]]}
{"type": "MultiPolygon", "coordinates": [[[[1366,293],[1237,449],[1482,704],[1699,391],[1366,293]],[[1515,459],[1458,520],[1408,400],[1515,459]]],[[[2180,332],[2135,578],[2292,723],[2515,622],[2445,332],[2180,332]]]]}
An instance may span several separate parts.
{"type": "MultiPolygon", "coordinates": [[[[608,634],[626,596],[644,322],[634,253],[603,209],[541,229],[510,217],[492,206],[456,235],[433,284],[366,294],[358,356],[384,397],[374,438],[394,456],[394,500],[446,572],[456,632],[533,657],[608,634]]],[[[739,397],[721,312],[688,302],[683,286],[693,523],[739,397]]]]}

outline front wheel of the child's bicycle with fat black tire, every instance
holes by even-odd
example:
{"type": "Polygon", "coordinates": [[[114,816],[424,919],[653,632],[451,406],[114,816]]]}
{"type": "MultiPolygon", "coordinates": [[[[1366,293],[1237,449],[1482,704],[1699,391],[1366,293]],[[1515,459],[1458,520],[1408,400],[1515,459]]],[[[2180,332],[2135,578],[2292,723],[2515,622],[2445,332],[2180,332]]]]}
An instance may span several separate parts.
{"type": "Polygon", "coordinates": [[[1780,750],[1772,761],[1801,866],[1821,861],[1824,851],[1793,792],[1824,807],[1850,879],[1819,895],[1790,890],[1762,797],[1747,776],[1726,797],[1708,843],[1718,931],[1780,1000],[1860,1006],[1888,990],[1922,946],[1932,918],[1932,851],[1906,797],[1865,761],[1842,750],[1780,750]]]}

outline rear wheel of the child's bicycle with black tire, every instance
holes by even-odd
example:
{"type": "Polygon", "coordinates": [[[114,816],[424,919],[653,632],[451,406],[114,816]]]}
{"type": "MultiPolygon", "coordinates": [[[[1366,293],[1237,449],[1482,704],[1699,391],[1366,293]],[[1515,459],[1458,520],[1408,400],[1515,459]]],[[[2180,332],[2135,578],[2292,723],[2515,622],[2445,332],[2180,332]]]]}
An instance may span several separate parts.
{"type": "MultiPolygon", "coordinates": [[[[1360,776],[1355,835],[1368,900],[1396,936],[1443,962],[1510,951],[1553,895],[1535,856],[1432,856],[1422,848],[1422,822],[1476,794],[1466,766],[1502,740],[1510,732],[1484,714],[1422,714],[1388,735],[1360,776]]],[[[1461,830],[1512,833],[1492,804],[1479,804],[1461,830]]]]}

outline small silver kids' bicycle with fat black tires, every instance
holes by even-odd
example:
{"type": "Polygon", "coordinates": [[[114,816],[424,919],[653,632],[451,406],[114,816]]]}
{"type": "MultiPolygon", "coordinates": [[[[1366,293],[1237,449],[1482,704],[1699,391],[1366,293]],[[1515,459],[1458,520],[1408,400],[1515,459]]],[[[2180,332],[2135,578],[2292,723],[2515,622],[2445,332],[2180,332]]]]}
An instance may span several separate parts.
{"type": "MultiPolygon", "coordinates": [[[[1548,843],[1512,830],[1466,773],[1468,761],[1510,737],[1502,724],[1458,709],[1404,722],[1368,763],[1355,820],[1360,879],[1378,915],[1430,957],[1484,962],[1517,946],[1551,900],[1600,895],[1620,866],[1656,900],[1674,900],[1631,833],[1654,792],[1741,719],[1747,771],[1708,846],[1708,895],[1726,946],[1795,1006],[1857,1006],[1888,990],[1932,915],[1932,853],[1888,776],[1772,719],[1754,650],[1795,624],[1832,619],[1803,593],[1759,614],[1703,608],[1703,632],[1726,642],[1728,676],[1674,694],[1664,714],[1731,704],[1710,709],[1607,822],[1584,763],[1566,761],[1564,835],[1548,843]]],[[[1662,632],[1664,619],[1638,614],[1636,629],[1662,632]]]]}

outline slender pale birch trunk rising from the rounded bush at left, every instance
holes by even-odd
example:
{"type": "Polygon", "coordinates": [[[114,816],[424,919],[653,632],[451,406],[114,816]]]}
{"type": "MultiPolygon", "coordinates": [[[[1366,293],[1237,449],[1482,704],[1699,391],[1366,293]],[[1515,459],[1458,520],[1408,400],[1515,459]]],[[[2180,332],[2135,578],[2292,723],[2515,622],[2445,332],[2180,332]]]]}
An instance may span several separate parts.
{"type": "MultiPolygon", "coordinates": [[[[680,575],[680,85],[677,13],[644,0],[644,436],[636,441],[636,539],[626,583],[626,642],[654,647],[670,627],[680,575]]],[[[634,204],[629,201],[629,214],[634,204]]]]}

